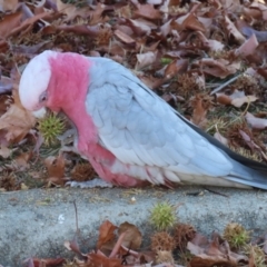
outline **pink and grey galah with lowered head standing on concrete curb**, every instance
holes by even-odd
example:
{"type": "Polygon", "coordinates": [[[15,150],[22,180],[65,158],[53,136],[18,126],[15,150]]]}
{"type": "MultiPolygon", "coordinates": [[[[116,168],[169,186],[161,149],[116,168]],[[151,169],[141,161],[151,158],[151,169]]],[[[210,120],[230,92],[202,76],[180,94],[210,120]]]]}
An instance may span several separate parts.
{"type": "Polygon", "coordinates": [[[264,164],[198,129],[110,59],[44,51],[26,67],[19,96],[28,110],[62,111],[78,151],[106,181],[267,189],[264,164]]]}

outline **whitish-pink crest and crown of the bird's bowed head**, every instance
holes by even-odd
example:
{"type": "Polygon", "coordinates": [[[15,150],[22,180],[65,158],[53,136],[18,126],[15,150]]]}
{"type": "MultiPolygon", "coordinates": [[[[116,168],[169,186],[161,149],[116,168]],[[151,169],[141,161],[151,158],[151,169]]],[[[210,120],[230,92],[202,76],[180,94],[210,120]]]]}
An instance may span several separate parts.
{"type": "Polygon", "coordinates": [[[26,67],[19,86],[20,101],[26,109],[39,109],[39,97],[47,90],[51,78],[49,58],[56,56],[57,52],[47,50],[31,59],[26,67]]]}

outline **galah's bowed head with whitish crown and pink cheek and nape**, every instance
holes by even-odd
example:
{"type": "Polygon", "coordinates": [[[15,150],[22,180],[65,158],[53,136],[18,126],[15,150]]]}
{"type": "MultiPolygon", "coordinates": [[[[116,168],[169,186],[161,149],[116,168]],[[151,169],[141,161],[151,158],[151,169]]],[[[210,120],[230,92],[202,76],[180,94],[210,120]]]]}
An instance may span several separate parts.
{"type": "Polygon", "coordinates": [[[22,106],[31,111],[47,107],[68,112],[85,102],[89,68],[88,58],[78,53],[48,50],[38,55],[21,76],[19,96],[22,106]]]}

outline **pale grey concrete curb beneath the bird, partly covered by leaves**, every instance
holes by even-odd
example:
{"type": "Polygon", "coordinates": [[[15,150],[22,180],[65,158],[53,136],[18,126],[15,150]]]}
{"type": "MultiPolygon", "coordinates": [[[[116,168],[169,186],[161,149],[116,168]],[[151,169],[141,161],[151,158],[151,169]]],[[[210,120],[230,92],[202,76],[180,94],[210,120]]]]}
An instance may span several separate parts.
{"type": "MultiPolygon", "coordinates": [[[[243,224],[254,234],[267,228],[267,192],[212,188],[228,195],[215,195],[199,187],[175,190],[148,189],[33,189],[0,194],[0,265],[21,266],[23,259],[36,257],[72,257],[63,247],[76,233],[73,200],[78,208],[85,249],[93,248],[100,224],[109,219],[115,225],[129,221],[139,226],[149,244],[151,227],[148,210],[158,201],[182,204],[178,208],[181,222],[192,224],[210,235],[221,231],[229,221],[243,224]],[[187,194],[201,192],[198,196],[187,194]],[[131,198],[136,201],[132,204],[131,198]]],[[[88,250],[85,250],[88,251],[88,250]]]]}

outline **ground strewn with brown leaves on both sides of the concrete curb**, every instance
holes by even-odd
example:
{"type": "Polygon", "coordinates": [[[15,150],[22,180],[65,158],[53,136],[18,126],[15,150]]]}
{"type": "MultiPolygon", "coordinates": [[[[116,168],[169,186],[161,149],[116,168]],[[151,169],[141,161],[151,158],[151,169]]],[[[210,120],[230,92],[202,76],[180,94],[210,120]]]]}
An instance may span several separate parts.
{"type": "MultiPolygon", "coordinates": [[[[63,117],[36,119],[20,105],[20,75],[33,56],[47,49],[108,57],[125,65],[195,125],[234,151],[266,162],[265,1],[1,0],[0,9],[1,191],[65,186],[96,176],[75,154],[63,117]]],[[[65,266],[172,266],[175,249],[185,256],[179,261],[184,266],[266,265],[263,246],[240,249],[217,234],[210,241],[190,227],[190,235],[180,237],[179,226],[174,236],[156,234],[155,254],[149,256],[137,253],[140,239],[126,241],[128,228],[138,233],[135,226],[121,225],[117,238],[117,227],[103,222],[96,253],[81,255],[71,243],[79,260],[65,266]]],[[[30,259],[28,266],[62,261],[30,259]]]]}

